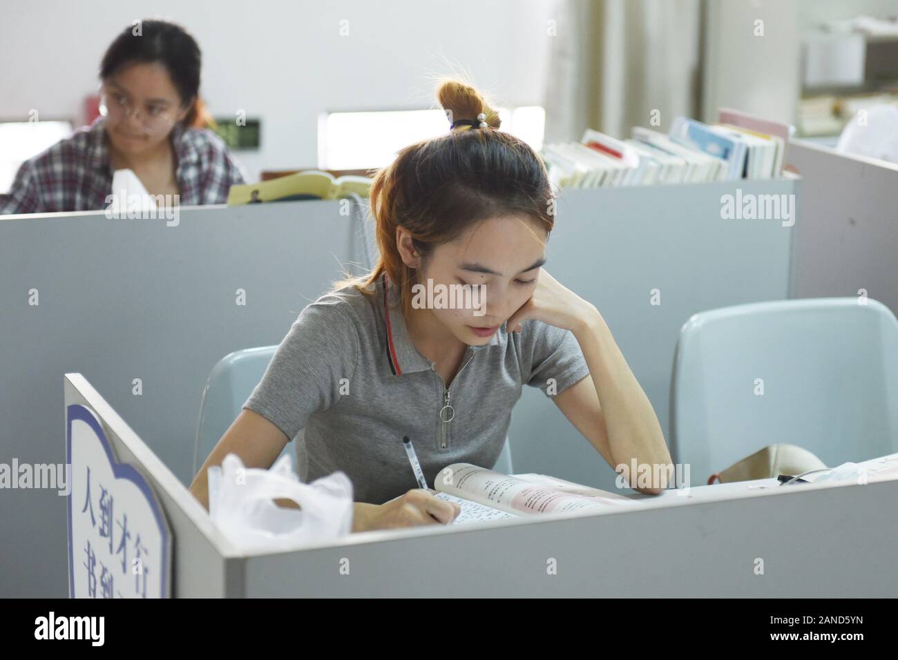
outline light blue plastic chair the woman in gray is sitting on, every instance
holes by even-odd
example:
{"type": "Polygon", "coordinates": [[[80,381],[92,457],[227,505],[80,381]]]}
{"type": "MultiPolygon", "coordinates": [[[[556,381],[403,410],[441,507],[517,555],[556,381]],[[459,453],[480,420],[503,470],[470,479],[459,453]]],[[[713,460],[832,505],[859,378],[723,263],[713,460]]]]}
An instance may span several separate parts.
{"type": "MultiPolygon", "coordinates": [[[[245,348],[226,355],[212,367],[199,404],[192,474],[197,473],[199,466],[209,453],[212,453],[218,441],[225,435],[225,431],[240,414],[243,403],[262,379],[276,350],[277,345],[245,348]]],[[[294,444],[302,442],[303,431],[300,431],[294,444]]],[[[291,451],[295,450],[290,443],[287,443],[281,455],[291,451]]],[[[507,438],[495,470],[511,474],[511,448],[507,438]]]]}

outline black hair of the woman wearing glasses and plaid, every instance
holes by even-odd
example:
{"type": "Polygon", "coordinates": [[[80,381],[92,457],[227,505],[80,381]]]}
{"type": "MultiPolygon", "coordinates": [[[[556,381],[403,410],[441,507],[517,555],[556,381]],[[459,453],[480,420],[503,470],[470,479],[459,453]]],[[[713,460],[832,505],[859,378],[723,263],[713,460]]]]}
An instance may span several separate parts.
{"type": "Polygon", "coordinates": [[[181,103],[190,106],[184,119],[190,126],[197,114],[201,59],[196,40],[180,25],[141,21],[125,28],[107,48],[100,65],[100,77],[107,80],[122,66],[135,62],[161,64],[172,77],[181,103]]]}

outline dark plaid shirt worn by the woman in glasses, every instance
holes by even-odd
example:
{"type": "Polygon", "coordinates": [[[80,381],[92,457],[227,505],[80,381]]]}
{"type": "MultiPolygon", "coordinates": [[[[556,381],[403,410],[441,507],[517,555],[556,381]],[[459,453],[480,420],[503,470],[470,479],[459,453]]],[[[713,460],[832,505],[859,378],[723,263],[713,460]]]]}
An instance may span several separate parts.
{"type": "MultiPolygon", "coordinates": [[[[94,211],[109,206],[112,193],[104,119],[60,140],[22,163],[13,188],[0,195],[0,214],[94,211]]],[[[243,183],[241,166],[211,130],[175,124],[172,146],[178,158],[180,204],[224,204],[232,185],[243,183]]]]}

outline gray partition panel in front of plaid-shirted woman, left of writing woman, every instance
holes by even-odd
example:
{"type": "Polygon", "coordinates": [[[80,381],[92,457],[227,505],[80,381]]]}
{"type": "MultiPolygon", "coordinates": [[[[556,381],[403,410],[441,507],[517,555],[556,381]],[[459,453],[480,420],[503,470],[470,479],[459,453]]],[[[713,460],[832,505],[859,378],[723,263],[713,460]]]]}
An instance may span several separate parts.
{"type": "MultiPolygon", "coordinates": [[[[365,265],[345,207],[187,207],[173,226],[102,212],[0,216],[0,461],[65,462],[61,377],[76,372],[189,484],[213,365],[277,344],[341,264],[365,265]]],[[[55,490],[0,494],[0,594],[66,596],[65,504],[55,490]]]]}

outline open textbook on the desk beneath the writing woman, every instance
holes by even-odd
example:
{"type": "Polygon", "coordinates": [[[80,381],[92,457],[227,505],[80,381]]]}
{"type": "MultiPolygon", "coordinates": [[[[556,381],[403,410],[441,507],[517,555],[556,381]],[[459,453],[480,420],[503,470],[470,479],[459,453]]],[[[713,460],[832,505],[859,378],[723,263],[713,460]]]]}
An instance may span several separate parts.
{"type": "Polygon", "coordinates": [[[606,490],[541,474],[506,475],[471,463],[445,467],[436,475],[434,488],[436,497],[462,507],[453,524],[638,506],[638,500],[606,490]]]}

